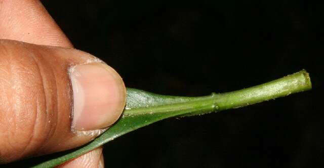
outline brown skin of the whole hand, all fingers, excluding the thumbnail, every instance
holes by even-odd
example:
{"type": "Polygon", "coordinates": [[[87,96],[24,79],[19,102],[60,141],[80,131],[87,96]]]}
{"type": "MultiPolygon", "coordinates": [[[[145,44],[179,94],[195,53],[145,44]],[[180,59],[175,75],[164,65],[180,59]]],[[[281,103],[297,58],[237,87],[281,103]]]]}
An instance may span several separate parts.
{"type": "MultiPolygon", "coordinates": [[[[0,163],[67,150],[95,138],[71,131],[67,73],[69,66],[93,56],[69,49],[70,41],[36,0],[0,0],[0,39],[15,40],[0,40],[0,163]]],[[[101,148],[61,167],[100,165],[101,148]]]]}

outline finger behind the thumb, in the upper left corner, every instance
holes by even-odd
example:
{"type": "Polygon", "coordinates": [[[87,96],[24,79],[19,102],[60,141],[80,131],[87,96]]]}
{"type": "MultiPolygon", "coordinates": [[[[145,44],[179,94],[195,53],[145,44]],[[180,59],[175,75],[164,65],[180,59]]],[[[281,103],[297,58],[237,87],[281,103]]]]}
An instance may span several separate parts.
{"type": "Polygon", "coordinates": [[[7,0],[0,9],[0,39],[73,47],[41,2],[7,0]]]}

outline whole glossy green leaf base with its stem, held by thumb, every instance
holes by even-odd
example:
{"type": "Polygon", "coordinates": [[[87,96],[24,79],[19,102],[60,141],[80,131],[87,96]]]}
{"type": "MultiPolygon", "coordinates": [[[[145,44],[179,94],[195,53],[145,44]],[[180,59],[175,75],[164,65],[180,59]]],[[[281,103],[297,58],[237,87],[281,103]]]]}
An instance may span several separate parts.
{"type": "Polygon", "coordinates": [[[101,136],[81,148],[34,167],[56,166],[125,133],[166,118],[239,108],[309,89],[311,89],[311,82],[305,70],[254,87],[201,97],[166,96],[128,88],[123,115],[101,136]]]}

